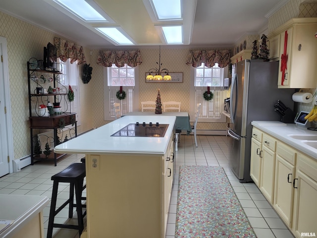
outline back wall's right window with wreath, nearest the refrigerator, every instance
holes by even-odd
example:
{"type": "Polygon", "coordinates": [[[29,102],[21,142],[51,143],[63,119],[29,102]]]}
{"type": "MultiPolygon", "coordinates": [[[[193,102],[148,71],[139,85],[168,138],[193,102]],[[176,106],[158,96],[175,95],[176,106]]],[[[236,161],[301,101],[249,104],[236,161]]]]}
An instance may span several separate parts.
{"type": "Polygon", "coordinates": [[[223,92],[223,78],[227,74],[227,67],[220,68],[218,64],[211,68],[202,63],[199,67],[192,67],[191,78],[191,115],[194,117],[196,104],[201,103],[201,112],[199,121],[205,122],[225,122],[226,119],[222,115],[224,108],[224,98],[226,96],[223,92]],[[213,98],[206,101],[203,97],[205,91],[210,87],[213,98]]]}

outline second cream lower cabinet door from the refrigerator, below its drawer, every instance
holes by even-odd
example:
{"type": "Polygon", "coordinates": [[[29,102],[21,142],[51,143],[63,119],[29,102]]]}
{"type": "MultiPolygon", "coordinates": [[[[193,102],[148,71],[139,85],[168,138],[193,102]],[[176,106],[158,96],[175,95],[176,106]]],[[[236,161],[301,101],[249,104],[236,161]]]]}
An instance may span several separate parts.
{"type": "Polygon", "coordinates": [[[262,145],[260,190],[266,199],[273,203],[275,152],[262,145]]]}

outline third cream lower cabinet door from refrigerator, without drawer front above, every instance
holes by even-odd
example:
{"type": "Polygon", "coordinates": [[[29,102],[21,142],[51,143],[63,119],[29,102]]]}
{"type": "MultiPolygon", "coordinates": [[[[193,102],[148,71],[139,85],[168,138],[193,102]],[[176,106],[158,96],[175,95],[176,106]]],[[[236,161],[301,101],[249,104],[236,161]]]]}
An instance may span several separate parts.
{"type": "Polygon", "coordinates": [[[289,227],[293,215],[294,176],[295,166],[276,154],[273,207],[289,227]]]}

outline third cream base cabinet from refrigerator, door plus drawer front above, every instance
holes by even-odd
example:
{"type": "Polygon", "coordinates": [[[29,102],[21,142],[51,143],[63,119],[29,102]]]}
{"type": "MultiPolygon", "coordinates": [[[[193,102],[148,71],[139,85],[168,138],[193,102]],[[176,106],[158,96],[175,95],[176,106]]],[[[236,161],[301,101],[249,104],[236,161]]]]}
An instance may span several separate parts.
{"type": "Polygon", "coordinates": [[[273,207],[289,227],[292,227],[295,161],[296,151],[277,141],[273,207]]]}

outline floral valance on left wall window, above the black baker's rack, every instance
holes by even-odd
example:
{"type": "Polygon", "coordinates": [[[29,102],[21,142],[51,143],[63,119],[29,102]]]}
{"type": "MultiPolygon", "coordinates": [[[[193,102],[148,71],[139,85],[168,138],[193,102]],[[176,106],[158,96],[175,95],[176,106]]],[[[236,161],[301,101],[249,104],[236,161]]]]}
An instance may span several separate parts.
{"type": "Polygon", "coordinates": [[[57,48],[57,57],[63,62],[71,59],[70,62],[73,63],[78,60],[77,64],[86,62],[84,49],[75,43],[66,41],[62,38],[54,38],[54,46],[57,48]]]}

